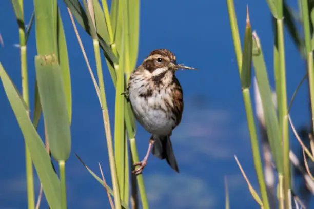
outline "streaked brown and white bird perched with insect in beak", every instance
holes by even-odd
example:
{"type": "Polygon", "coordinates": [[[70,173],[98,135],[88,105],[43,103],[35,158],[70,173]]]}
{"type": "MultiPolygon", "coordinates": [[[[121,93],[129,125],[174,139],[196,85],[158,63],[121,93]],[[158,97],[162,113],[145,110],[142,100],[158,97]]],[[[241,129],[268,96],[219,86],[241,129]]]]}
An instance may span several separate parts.
{"type": "Polygon", "coordinates": [[[168,164],[179,173],[170,141],[172,130],[179,125],[183,112],[183,92],[174,73],[179,68],[195,69],[176,63],[176,57],[167,49],[152,51],[141,65],[135,68],[124,93],[135,118],[151,133],[144,159],[134,166],[132,173],[142,173],[149,153],[168,164]]]}

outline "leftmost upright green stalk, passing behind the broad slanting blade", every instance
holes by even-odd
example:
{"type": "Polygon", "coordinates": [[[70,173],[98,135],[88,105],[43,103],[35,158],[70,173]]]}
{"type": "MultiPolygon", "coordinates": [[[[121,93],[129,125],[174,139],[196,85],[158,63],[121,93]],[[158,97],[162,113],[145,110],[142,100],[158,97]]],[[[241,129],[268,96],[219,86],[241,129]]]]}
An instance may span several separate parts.
{"type": "MultiPolygon", "coordinates": [[[[24,17],[23,0],[19,1],[21,7],[22,16],[24,17]]],[[[26,40],[25,40],[25,26],[24,22],[18,24],[19,32],[19,46],[21,50],[21,75],[22,75],[22,91],[23,99],[26,105],[29,107],[29,91],[28,91],[28,72],[27,72],[27,57],[26,57],[26,40]]],[[[29,116],[29,112],[28,112],[29,116]]],[[[30,152],[25,144],[25,161],[26,161],[26,181],[27,181],[27,199],[28,208],[35,208],[35,196],[34,196],[34,178],[33,178],[33,163],[30,152]]]]}

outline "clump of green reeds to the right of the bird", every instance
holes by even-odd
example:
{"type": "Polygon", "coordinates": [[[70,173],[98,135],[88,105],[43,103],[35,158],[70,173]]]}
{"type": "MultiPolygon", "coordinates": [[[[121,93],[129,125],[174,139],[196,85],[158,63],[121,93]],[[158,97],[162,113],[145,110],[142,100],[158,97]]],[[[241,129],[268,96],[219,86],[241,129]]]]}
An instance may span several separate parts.
{"type": "MultiPolygon", "coordinates": [[[[232,31],[232,38],[234,43],[235,54],[237,55],[237,61],[240,72],[241,79],[241,87],[246,90],[246,94],[244,96],[244,105],[246,109],[246,114],[248,118],[248,129],[251,138],[252,144],[252,154],[254,165],[257,172],[257,177],[260,184],[260,192],[262,196],[262,204],[261,208],[269,208],[267,196],[272,200],[278,200],[279,208],[288,208],[291,207],[291,169],[290,169],[290,141],[289,141],[289,129],[288,129],[288,119],[289,110],[292,105],[293,98],[301,83],[306,78],[306,75],[301,80],[300,84],[297,87],[297,90],[292,96],[291,101],[287,101],[287,93],[286,93],[286,68],[285,68],[285,41],[284,41],[284,24],[287,26],[287,29],[292,37],[292,40],[295,42],[298,47],[301,55],[306,57],[307,60],[307,70],[308,70],[308,79],[309,79],[309,89],[310,89],[310,103],[311,103],[311,114],[314,112],[314,74],[313,74],[313,55],[312,55],[312,39],[313,37],[313,20],[314,12],[313,12],[313,4],[308,0],[299,0],[300,6],[300,15],[302,18],[297,17],[296,13],[293,12],[291,8],[287,5],[287,3],[283,0],[266,0],[269,10],[273,16],[273,24],[274,24],[274,77],[275,77],[275,86],[276,86],[276,101],[278,103],[277,111],[274,106],[274,101],[271,92],[271,83],[268,80],[266,65],[263,57],[263,51],[261,47],[261,43],[259,37],[256,32],[251,32],[248,30],[248,24],[246,27],[245,40],[244,40],[244,53],[242,58],[241,51],[241,43],[238,32],[238,24],[235,16],[234,4],[232,0],[227,0],[229,18],[230,18],[230,26],[232,31]],[[304,28],[304,38],[301,37],[300,34],[302,32],[298,31],[298,22],[303,23],[304,28]],[[252,39],[252,57],[249,55],[251,53],[248,51],[249,46],[248,43],[248,33],[253,34],[252,39]],[[305,55],[304,55],[305,54],[305,55]],[[259,94],[261,97],[261,106],[263,113],[262,115],[258,115],[259,120],[263,120],[261,123],[261,132],[262,137],[266,137],[267,142],[270,145],[270,150],[272,153],[272,158],[275,162],[276,168],[273,172],[278,172],[278,191],[277,193],[274,191],[265,190],[265,180],[262,173],[264,172],[261,167],[260,154],[259,149],[260,145],[257,143],[256,136],[256,127],[254,125],[254,120],[252,119],[253,113],[251,111],[251,101],[249,99],[249,87],[250,87],[250,79],[251,74],[249,70],[249,66],[251,64],[251,58],[253,60],[254,72],[257,79],[257,86],[259,89],[259,94]],[[240,66],[242,68],[240,69],[240,66]],[[246,69],[246,71],[245,71],[246,69]],[[247,98],[246,98],[247,97],[247,98]],[[288,108],[289,107],[289,108],[288,108]],[[264,133],[265,132],[265,133],[264,133]],[[267,132],[267,134],[266,134],[267,132]],[[261,178],[263,177],[263,178],[261,178]],[[277,194],[277,197],[272,197],[277,194]]],[[[251,40],[251,37],[249,37],[251,40]]],[[[295,129],[293,128],[291,119],[290,123],[295,133],[296,137],[299,140],[299,137],[296,134],[295,129]]],[[[314,124],[312,122],[312,124],[314,124]]],[[[301,140],[299,140],[300,142],[301,140]]],[[[301,142],[300,142],[301,143],[301,142]]],[[[301,143],[302,145],[302,143],[301,143]]],[[[303,145],[302,145],[303,147],[303,145]]],[[[303,149],[305,149],[303,147],[303,149]]],[[[305,149],[307,150],[307,149],[305,149]]],[[[308,151],[308,150],[307,150],[308,151]]],[[[265,153],[263,153],[265,154],[265,153]]],[[[311,155],[311,154],[310,154],[311,155]]],[[[238,160],[237,160],[238,161],[238,160]]],[[[239,165],[240,166],[240,165],[239,165]]],[[[241,166],[240,166],[241,167],[241,166]]],[[[267,171],[269,172],[269,171],[267,171]]],[[[267,175],[267,173],[265,173],[267,175]]],[[[304,174],[307,175],[307,174],[304,174]]],[[[244,176],[246,178],[246,176],[244,176]]],[[[265,176],[267,178],[267,176],[265,176]]],[[[247,179],[246,179],[247,180],[247,179]]],[[[248,180],[247,180],[248,181],[248,180]]],[[[251,189],[250,189],[251,191],[251,189]]],[[[254,195],[254,199],[256,199],[256,195],[254,195]]],[[[259,201],[258,201],[259,202],[259,201]]],[[[275,207],[277,203],[271,203],[271,208],[275,207]]]]}

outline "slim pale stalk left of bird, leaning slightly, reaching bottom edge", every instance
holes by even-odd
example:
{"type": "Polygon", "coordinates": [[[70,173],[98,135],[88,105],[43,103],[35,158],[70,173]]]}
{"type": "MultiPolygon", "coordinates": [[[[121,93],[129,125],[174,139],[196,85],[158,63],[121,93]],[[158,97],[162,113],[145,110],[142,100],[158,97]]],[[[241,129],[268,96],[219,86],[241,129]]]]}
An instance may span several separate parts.
{"type": "Polygon", "coordinates": [[[106,139],[107,139],[106,141],[107,141],[108,154],[109,154],[110,172],[111,172],[113,193],[114,193],[114,205],[116,209],[121,209],[119,183],[117,179],[116,165],[115,165],[114,154],[113,154],[110,121],[109,121],[107,100],[106,100],[106,94],[105,94],[103,69],[102,69],[98,39],[93,39],[93,46],[94,46],[94,52],[95,52],[97,76],[99,80],[98,82],[99,82],[99,89],[100,89],[100,94],[101,94],[101,106],[102,106],[102,111],[103,111],[104,126],[105,126],[106,139]]]}

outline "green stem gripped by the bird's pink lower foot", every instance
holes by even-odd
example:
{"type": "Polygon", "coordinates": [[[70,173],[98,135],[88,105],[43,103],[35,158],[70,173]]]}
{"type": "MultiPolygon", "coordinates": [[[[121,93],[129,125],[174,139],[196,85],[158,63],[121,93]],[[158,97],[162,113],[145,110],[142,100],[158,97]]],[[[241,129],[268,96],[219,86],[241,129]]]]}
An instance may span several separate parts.
{"type": "MultiPolygon", "coordinates": [[[[133,162],[139,162],[140,159],[138,155],[138,149],[136,148],[136,144],[135,144],[135,138],[130,138],[129,140],[130,140],[130,148],[131,148],[133,162]]],[[[143,175],[142,174],[137,175],[136,179],[138,180],[138,184],[139,184],[142,207],[143,209],[148,209],[149,207],[148,207],[148,201],[147,201],[147,196],[146,196],[146,191],[145,191],[145,186],[144,186],[143,175]]]]}

